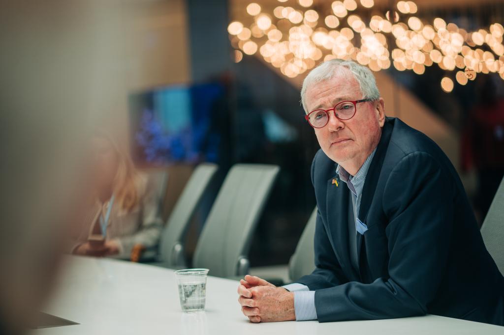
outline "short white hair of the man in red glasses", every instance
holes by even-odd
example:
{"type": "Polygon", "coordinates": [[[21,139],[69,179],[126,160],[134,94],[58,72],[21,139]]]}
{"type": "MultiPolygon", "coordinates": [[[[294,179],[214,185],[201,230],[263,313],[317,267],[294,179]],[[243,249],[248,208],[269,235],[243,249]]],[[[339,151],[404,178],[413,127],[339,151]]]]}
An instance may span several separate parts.
{"type": "Polygon", "coordinates": [[[359,83],[362,99],[376,100],[380,98],[380,91],[376,87],[376,79],[369,68],[352,60],[336,58],[321,63],[304,78],[303,87],[301,88],[301,104],[305,113],[308,113],[306,107],[306,90],[308,87],[321,81],[330,80],[335,75],[341,74],[342,67],[346,67],[353,73],[359,83]]]}

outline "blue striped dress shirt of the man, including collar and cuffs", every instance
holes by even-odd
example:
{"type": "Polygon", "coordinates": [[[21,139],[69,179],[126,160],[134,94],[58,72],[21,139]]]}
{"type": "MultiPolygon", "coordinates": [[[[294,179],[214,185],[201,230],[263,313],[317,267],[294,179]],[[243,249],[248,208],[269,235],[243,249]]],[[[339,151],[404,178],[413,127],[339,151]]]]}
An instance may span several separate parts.
{"type": "MultiPolygon", "coordinates": [[[[366,158],[355,176],[352,177],[341,165],[336,168],[336,173],[342,182],[350,190],[350,201],[348,202],[348,238],[350,239],[350,260],[352,266],[358,270],[357,260],[357,230],[356,222],[358,218],[362,189],[366,180],[369,165],[373,159],[374,152],[366,158]]],[[[283,286],[285,289],[294,292],[294,312],[296,321],[317,320],[317,310],[315,309],[315,291],[310,291],[306,285],[293,283],[283,286]]]]}

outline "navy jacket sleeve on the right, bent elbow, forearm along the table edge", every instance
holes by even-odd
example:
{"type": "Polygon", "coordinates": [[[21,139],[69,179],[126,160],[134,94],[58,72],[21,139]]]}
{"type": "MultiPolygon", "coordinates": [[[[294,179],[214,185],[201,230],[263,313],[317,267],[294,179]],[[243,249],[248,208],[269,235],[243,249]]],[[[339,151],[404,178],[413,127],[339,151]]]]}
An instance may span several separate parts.
{"type": "Polygon", "coordinates": [[[388,218],[389,277],[317,290],[320,322],[426,313],[439,287],[454,229],[455,195],[444,171],[424,152],[410,153],[396,164],[382,204],[388,218]]]}

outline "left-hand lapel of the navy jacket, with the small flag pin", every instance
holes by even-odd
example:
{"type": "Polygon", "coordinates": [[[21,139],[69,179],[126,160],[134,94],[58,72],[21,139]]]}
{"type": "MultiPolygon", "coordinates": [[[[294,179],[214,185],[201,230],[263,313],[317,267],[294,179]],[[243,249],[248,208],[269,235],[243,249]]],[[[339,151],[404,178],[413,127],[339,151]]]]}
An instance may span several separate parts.
{"type": "Polygon", "coordinates": [[[348,201],[348,187],[336,174],[327,181],[328,226],[326,228],[330,240],[334,241],[333,248],[336,251],[336,257],[340,262],[341,268],[347,276],[348,272],[352,272],[355,276],[357,274],[351,265],[348,241],[348,201]],[[334,179],[337,180],[338,184],[333,184],[334,179]]]}

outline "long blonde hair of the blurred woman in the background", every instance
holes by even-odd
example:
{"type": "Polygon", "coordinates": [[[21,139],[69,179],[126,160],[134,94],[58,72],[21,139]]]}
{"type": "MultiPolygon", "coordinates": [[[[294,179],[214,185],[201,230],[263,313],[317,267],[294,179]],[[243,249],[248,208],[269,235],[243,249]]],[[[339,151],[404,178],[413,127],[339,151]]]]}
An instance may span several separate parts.
{"type": "Polygon", "coordinates": [[[144,180],[137,172],[130,155],[121,149],[113,137],[104,130],[95,130],[95,137],[106,139],[117,155],[117,172],[113,181],[113,193],[116,204],[124,211],[132,210],[142,197],[139,192],[144,180]]]}

